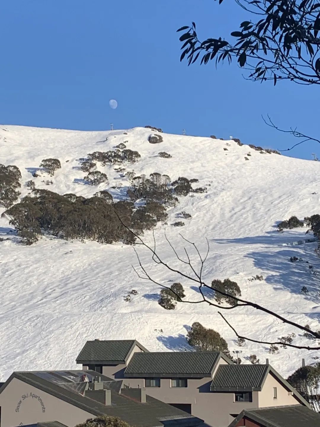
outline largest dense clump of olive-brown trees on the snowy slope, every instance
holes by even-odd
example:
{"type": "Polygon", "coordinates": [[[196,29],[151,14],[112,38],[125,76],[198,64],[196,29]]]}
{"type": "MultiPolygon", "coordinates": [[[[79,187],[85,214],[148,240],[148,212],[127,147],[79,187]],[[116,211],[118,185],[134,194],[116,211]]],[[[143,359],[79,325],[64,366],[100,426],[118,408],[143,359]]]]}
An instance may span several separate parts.
{"type": "Polygon", "coordinates": [[[34,196],[24,197],[7,209],[3,216],[9,218],[18,234],[28,233],[29,240],[32,236],[36,238],[49,233],[66,240],[134,243],[135,236],[130,230],[143,234],[145,229],[156,224],[156,219],[143,209],[136,209],[132,202],[114,203],[107,193],[101,193],[101,196],[86,199],[71,193],[61,196],[49,190],[36,189],[34,196]]]}

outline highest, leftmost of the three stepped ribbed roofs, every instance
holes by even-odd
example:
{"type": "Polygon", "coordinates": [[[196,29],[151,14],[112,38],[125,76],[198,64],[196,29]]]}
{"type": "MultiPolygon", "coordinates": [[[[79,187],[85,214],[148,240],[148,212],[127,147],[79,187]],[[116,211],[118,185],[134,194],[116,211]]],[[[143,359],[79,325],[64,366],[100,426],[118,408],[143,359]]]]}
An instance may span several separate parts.
{"type": "Polygon", "coordinates": [[[135,339],[114,339],[107,341],[87,341],[80,351],[76,362],[82,364],[115,363],[124,364],[133,351],[135,345],[143,351],[148,351],[135,339]]]}

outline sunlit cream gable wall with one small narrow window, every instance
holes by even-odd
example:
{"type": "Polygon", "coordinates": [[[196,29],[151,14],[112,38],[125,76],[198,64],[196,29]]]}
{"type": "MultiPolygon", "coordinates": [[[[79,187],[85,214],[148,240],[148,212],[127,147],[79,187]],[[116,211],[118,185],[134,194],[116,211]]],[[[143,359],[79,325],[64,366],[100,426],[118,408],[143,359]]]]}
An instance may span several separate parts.
{"type": "Polygon", "coordinates": [[[288,390],[269,372],[262,391],[258,392],[259,407],[297,405],[300,402],[292,395],[288,395],[288,390]],[[273,397],[273,388],[277,387],[277,399],[273,397]]]}

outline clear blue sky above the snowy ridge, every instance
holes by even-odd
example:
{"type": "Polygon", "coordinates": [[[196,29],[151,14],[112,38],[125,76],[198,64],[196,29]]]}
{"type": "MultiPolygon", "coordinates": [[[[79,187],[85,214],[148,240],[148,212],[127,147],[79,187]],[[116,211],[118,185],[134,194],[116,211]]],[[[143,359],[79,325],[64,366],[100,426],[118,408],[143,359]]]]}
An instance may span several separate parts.
{"type": "MultiPolygon", "coordinates": [[[[315,85],[249,82],[236,62],[180,63],[180,26],[194,20],[200,38],[227,38],[248,18],[231,0],[6,0],[1,15],[3,124],[98,130],[112,122],[274,149],[296,143],[265,126],[269,113],[279,126],[320,136],[315,85]]],[[[320,157],[320,144],[290,155],[312,152],[320,157]]]]}

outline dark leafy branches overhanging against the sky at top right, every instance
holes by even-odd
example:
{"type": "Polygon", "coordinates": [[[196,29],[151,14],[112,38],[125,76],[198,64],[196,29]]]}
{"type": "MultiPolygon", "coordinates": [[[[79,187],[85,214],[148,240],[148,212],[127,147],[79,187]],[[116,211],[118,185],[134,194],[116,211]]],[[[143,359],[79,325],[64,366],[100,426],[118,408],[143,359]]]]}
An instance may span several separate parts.
{"type": "MultiPolygon", "coordinates": [[[[223,0],[219,0],[219,4],[223,0]]],[[[266,0],[237,2],[253,19],[239,24],[231,39],[208,38],[201,41],[196,24],[183,26],[180,37],[182,55],[188,65],[210,60],[228,61],[235,58],[240,67],[248,70],[253,81],[288,79],[299,84],[320,84],[320,12],[315,0],[266,0]]]]}

